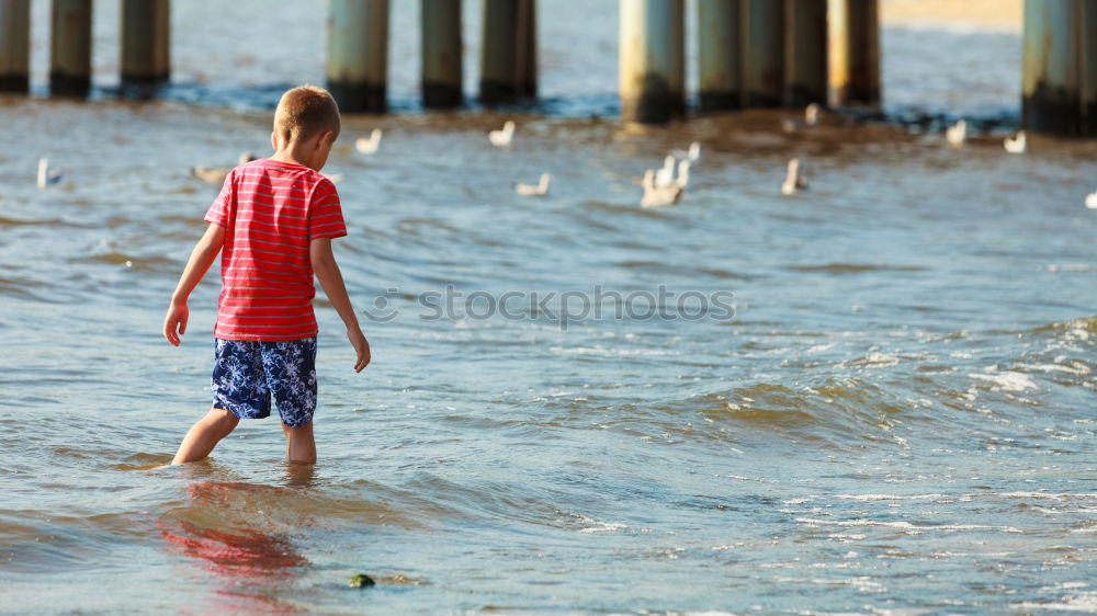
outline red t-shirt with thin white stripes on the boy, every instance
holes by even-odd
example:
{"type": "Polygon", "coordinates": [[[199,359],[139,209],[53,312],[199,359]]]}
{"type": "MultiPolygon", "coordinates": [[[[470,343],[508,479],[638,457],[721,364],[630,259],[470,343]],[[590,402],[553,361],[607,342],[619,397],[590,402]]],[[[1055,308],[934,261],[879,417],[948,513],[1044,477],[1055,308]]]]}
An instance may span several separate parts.
{"type": "Polygon", "coordinates": [[[303,164],[255,160],[228,174],[205,220],[225,228],[214,335],[316,335],[308,242],[347,235],[331,181],[303,164]]]}

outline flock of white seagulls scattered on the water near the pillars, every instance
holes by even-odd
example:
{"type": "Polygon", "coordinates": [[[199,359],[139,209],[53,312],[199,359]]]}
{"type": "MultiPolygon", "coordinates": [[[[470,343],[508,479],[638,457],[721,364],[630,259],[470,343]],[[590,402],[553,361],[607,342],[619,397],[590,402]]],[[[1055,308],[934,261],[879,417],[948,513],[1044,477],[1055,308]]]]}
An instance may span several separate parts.
{"type": "MultiPolygon", "coordinates": [[[[819,105],[811,104],[804,110],[803,119],[784,118],[781,121],[781,128],[785,133],[796,133],[811,129],[818,125],[819,105]]],[[[510,147],[514,138],[517,126],[513,121],[508,119],[501,128],[488,133],[487,138],[497,148],[510,147]]],[[[359,153],[373,156],[381,149],[383,133],[381,128],[374,128],[369,137],[359,137],[354,140],[354,149],[359,153]]],[[[962,148],[968,140],[968,122],[958,121],[945,130],[945,140],[952,148],[962,148]]],[[[1013,155],[1022,155],[1028,151],[1028,138],[1024,130],[1008,136],[1003,141],[1005,150],[1013,155]]],[[[672,150],[663,160],[663,166],[657,169],[644,171],[643,178],[633,178],[633,182],[643,189],[644,194],[640,199],[642,207],[665,207],[677,204],[686,189],[689,186],[690,168],[701,159],[701,144],[693,141],[686,150],[672,150]]],[[[239,164],[256,160],[250,152],[240,155],[239,164]]],[[[194,167],[191,173],[210,184],[219,185],[233,170],[231,167],[194,167]]],[[[781,183],[782,195],[793,195],[799,191],[807,189],[807,180],[802,171],[802,163],[799,158],[789,160],[785,169],[784,182],[781,183]]],[[[49,166],[48,159],[38,160],[38,187],[60,182],[63,173],[49,166]]],[[[327,175],[332,182],[342,179],[342,174],[327,175]]],[[[544,196],[548,194],[552,183],[551,173],[542,173],[536,184],[514,184],[514,192],[522,196],[544,196]]],[[[1086,207],[1097,209],[1097,192],[1086,195],[1086,207]]]]}

